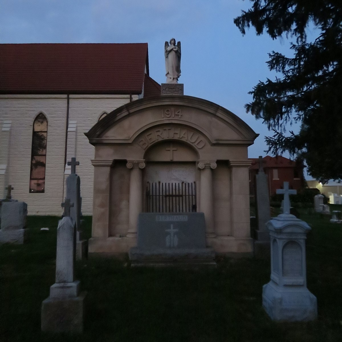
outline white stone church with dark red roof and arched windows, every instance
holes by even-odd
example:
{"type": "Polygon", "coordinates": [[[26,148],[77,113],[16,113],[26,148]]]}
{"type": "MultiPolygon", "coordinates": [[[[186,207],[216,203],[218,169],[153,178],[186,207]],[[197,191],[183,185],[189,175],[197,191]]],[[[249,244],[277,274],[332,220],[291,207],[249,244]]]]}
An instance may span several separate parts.
{"type": "Polygon", "coordinates": [[[110,111],[160,94],[147,43],[0,44],[0,198],[30,215],[60,215],[66,162],[80,165],[82,213],[92,214],[94,146],[85,132],[110,111]]]}

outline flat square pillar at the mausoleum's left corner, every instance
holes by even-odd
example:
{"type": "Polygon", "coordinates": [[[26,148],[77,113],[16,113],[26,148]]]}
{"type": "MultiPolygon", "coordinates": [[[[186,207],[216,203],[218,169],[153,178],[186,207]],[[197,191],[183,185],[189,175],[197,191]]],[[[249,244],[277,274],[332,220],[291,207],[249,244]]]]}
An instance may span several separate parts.
{"type": "Polygon", "coordinates": [[[94,166],[92,237],[109,236],[110,174],[113,160],[92,160],[94,166]]]}

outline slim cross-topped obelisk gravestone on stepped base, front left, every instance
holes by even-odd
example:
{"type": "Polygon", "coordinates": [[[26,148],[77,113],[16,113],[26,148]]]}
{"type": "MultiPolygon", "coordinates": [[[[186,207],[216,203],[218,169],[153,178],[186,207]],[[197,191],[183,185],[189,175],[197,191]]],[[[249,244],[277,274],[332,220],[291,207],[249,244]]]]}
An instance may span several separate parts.
{"type": "Polygon", "coordinates": [[[79,293],[79,280],[74,279],[75,223],[68,216],[70,200],[63,203],[65,212],[57,228],[56,282],[50,297],[42,302],[41,329],[50,332],[83,331],[85,292],[79,293]]]}

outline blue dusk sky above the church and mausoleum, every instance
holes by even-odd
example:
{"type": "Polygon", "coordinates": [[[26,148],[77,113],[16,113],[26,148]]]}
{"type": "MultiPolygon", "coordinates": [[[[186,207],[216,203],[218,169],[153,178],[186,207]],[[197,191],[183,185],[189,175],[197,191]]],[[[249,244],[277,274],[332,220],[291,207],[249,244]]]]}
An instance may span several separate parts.
{"type": "Polygon", "coordinates": [[[272,132],[246,113],[248,92],[259,80],[275,79],[266,65],[269,52],[292,52],[286,38],[257,36],[253,28],[242,36],[233,19],[250,5],[248,0],[0,0],[0,42],[147,42],[149,75],[165,83],[164,43],[175,38],[182,45],[184,94],[217,103],[244,120],[260,134],[248,148],[248,156],[258,158],[266,155],[264,136],[272,132]]]}

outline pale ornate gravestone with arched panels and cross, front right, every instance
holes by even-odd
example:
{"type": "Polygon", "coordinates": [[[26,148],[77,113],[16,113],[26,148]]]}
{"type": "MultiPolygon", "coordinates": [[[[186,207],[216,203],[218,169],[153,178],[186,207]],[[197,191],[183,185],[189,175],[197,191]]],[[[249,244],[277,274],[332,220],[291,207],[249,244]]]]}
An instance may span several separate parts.
{"type": "Polygon", "coordinates": [[[306,288],[305,239],[308,224],[289,213],[288,184],[284,182],[284,213],[267,223],[271,237],[271,280],[263,286],[262,304],[276,321],[317,318],[316,297],[306,288]]]}

